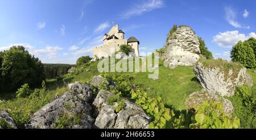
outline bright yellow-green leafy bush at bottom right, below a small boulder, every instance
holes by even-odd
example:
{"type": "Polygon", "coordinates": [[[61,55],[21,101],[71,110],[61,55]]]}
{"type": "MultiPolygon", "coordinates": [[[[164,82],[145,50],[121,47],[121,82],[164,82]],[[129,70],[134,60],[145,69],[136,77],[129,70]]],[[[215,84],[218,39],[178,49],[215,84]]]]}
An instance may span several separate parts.
{"type": "Polygon", "coordinates": [[[194,121],[190,128],[203,129],[232,129],[240,128],[240,119],[237,117],[228,117],[223,113],[223,105],[213,103],[212,100],[205,101],[196,108],[196,114],[193,116],[194,121]]]}

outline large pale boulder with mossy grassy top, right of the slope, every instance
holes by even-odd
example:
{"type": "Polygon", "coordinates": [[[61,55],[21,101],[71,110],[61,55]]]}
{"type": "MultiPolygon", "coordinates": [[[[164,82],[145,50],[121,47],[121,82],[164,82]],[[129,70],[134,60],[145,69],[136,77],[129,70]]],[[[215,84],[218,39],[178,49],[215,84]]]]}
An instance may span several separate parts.
{"type": "Polygon", "coordinates": [[[212,63],[215,64],[199,62],[193,69],[205,90],[221,96],[233,96],[237,86],[243,84],[253,86],[253,80],[246,73],[246,68],[221,60],[212,60],[212,63]]]}

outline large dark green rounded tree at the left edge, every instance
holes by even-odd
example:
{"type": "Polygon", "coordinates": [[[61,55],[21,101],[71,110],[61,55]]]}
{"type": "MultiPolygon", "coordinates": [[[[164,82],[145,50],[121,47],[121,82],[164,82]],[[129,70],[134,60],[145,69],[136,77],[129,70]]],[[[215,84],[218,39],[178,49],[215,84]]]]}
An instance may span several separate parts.
{"type": "Polygon", "coordinates": [[[4,91],[15,91],[24,83],[38,87],[45,79],[42,62],[23,46],[13,46],[2,52],[1,72],[4,91]]]}

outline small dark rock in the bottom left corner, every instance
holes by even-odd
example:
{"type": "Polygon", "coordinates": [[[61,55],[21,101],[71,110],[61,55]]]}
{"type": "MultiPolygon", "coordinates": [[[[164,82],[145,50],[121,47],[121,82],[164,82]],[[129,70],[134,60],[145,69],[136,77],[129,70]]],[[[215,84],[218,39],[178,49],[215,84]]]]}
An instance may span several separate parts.
{"type": "Polygon", "coordinates": [[[7,112],[0,112],[0,129],[17,129],[17,126],[7,112]]]}

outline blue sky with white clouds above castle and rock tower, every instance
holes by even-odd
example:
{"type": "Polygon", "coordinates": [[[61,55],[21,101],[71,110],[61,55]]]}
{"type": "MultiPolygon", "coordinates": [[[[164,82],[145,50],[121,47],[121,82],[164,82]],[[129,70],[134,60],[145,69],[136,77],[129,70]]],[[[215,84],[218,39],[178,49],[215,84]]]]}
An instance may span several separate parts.
{"type": "Polygon", "coordinates": [[[165,44],[174,24],[203,37],[214,57],[227,60],[238,40],[256,37],[256,1],[0,0],[0,51],[24,45],[43,63],[92,56],[113,24],[140,41],[140,52],[165,44]]]}

